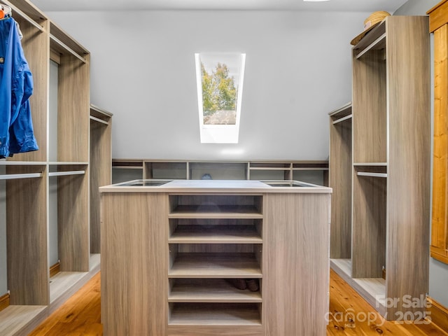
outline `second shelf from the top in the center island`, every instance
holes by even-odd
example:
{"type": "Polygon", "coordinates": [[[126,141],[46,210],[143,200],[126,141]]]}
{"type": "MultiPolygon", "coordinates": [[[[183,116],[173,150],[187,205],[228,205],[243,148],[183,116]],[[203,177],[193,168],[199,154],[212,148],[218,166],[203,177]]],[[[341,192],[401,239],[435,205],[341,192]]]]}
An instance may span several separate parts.
{"type": "Polygon", "coordinates": [[[253,225],[178,225],[171,244],[261,244],[253,225]]]}

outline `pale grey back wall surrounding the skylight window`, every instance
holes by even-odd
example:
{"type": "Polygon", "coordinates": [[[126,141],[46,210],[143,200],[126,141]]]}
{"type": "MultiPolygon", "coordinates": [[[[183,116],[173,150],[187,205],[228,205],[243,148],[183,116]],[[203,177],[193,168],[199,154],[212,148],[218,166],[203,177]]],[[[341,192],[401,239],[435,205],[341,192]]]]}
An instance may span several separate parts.
{"type": "Polygon", "coordinates": [[[91,52],[91,101],[114,113],[114,158],[207,160],[328,158],[328,112],[351,100],[349,41],[367,17],[207,10],[48,15],[91,52]],[[239,144],[200,144],[194,54],[206,51],[246,52],[239,144]]]}

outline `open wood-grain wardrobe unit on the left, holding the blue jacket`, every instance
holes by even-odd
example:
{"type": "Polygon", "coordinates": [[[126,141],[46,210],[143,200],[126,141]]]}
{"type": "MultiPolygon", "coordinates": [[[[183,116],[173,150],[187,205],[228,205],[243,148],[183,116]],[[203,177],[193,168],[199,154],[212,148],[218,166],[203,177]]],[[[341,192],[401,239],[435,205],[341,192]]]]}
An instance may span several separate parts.
{"type": "Polygon", "coordinates": [[[99,201],[89,190],[111,182],[111,114],[90,107],[88,50],[31,2],[1,2],[12,8],[23,34],[39,146],[0,161],[0,297],[6,307],[0,335],[6,336],[27,335],[99,270],[99,249],[90,248],[99,245],[90,233],[98,232],[90,211],[98,211],[99,201]],[[98,155],[99,148],[109,155],[98,155]]]}

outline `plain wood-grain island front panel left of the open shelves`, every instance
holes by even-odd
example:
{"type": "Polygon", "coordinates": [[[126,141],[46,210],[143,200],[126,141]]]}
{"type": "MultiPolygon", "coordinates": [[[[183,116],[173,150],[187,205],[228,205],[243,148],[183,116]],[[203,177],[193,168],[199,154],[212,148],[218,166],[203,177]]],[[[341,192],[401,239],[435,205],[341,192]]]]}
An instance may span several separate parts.
{"type": "Polygon", "coordinates": [[[167,196],[101,197],[104,335],[166,335],[167,196]]]}

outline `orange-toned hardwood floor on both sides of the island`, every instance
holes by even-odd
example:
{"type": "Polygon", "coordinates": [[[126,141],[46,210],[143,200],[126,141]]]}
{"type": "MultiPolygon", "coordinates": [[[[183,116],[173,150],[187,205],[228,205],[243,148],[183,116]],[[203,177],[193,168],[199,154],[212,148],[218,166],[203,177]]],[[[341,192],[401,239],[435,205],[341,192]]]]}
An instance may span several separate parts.
{"type": "MultiPolygon", "coordinates": [[[[101,336],[103,328],[100,310],[98,273],[29,336],[101,336]]],[[[433,324],[424,324],[423,321],[421,324],[384,321],[370,304],[332,271],[329,318],[327,336],[448,336],[448,330],[443,331],[433,324]]]]}

